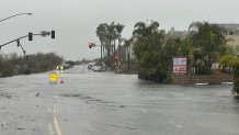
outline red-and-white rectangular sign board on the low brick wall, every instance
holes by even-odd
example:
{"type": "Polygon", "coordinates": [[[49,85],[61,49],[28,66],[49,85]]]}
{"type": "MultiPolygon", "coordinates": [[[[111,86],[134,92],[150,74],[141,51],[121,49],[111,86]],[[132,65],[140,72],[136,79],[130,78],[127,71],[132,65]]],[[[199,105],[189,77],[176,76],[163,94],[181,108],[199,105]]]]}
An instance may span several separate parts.
{"type": "Polygon", "coordinates": [[[186,74],[186,57],[173,58],[173,74],[185,75],[186,74]]]}

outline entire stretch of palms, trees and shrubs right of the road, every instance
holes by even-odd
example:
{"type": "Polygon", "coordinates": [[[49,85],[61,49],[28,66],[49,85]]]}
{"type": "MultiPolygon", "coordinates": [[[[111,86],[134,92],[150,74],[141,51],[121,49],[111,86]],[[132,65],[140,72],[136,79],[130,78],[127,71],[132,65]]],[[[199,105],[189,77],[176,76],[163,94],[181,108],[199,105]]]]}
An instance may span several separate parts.
{"type": "Polygon", "coordinates": [[[183,56],[187,58],[187,75],[215,74],[213,66],[219,64],[217,74],[234,74],[235,91],[239,92],[238,49],[227,45],[231,40],[226,37],[227,31],[223,27],[208,22],[193,22],[186,33],[177,35],[160,29],[157,21],[137,22],[128,40],[122,38],[123,29],[124,25],[115,25],[114,22],[102,23],[96,29],[107,67],[114,67],[116,55],[122,64],[128,64],[129,69],[133,61],[129,54],[134,52],[140,79],[172,82],[172,58],[183,56]]]}

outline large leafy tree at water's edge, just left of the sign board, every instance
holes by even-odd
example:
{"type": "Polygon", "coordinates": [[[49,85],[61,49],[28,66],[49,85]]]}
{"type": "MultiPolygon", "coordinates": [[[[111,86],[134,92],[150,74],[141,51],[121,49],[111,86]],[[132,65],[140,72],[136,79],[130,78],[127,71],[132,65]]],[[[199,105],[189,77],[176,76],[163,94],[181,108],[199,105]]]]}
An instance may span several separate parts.
{"type": "Polygon", "coordinates": [[[139,78],[166,82],[170,78],[170,65],[178,45],[174,38],[167,38],[164,31],[158,27],[159,23],[153,21],[149,25],[136,23],[134,53],[140,68],[139,78]]]}

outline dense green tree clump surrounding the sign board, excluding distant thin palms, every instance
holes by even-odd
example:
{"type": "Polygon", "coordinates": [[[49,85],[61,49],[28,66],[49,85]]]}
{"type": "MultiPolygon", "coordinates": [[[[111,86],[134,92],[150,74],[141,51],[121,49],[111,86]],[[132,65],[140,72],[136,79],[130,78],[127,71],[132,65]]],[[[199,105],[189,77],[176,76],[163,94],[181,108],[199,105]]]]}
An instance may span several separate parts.
{"type": "Polygon", "coordinates": [[[231,53],[226,46],[226,31],[208,22],[194,22],[183,37],[168,35],[158,22],[136,23],[134,52],[139,64],[139,78],[157,82],[171,80],[172,58],[187,58],[187,72],[210,75],[212,66],[231,53]]]}

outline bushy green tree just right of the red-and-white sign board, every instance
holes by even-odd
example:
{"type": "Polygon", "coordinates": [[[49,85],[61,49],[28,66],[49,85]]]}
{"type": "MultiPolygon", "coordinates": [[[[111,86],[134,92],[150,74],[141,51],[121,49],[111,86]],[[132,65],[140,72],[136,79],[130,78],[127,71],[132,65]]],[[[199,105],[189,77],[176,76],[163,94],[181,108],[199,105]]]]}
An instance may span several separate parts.
{"type": "Polygon", "coordinates": [[[196,63],[201,60],[201,67],[208,70],[205,74],[210,74],[213,63],[226,50],[226,31],[208,22],[194,22],[189,30],[194,47],[194,65],[198,67],[196,63]]]}

